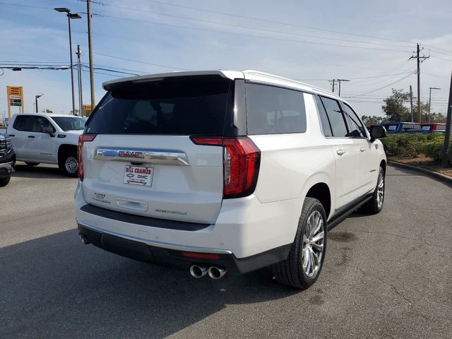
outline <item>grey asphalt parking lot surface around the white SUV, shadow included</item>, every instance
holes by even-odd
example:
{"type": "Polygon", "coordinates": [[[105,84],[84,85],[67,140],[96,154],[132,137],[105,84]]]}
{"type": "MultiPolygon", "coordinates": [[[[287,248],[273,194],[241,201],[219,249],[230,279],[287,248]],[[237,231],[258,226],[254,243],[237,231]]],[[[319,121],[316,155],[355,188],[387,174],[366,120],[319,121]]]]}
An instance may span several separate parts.
{"type": "Polygon", "coordinates": [[[452,189],[433,179],[389,167],[383,212],[335,227],[301,292],[84,246],[75,186],[19,165],[0,189],[0,338],[452,338],[452,189]]]}

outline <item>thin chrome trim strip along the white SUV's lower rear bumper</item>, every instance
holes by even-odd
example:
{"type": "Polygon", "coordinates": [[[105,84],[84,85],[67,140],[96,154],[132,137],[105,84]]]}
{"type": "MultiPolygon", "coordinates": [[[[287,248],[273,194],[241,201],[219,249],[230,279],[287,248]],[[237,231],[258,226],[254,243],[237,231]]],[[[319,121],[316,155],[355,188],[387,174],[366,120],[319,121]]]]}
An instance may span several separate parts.
{"type": "Polygon", "coordinates": [[[142,239],[138,237],[132,237],[130,235],[124,235],[119,234],[117,232],[112,232],[108,230],[104,230],[100,227],[96,227],[93,225],[88,225],[85,222],[80,221],[78,218],[76,218],[76,222],[78,225],[81,225],[82,227],[89,228],[90,230],[93,230],[95,232],[110,234],[115,237],[120,237],[123,239],[132,240],[134,242],[142,242],[143,244],[147,244],[149,246],[155,246],[155,247],[162,247],[163,249],[174,249],[176,251],[186,251],[186,252],[201,252],[201,253],[213,253],[213,254],[232,254],[232,251],[229,251],[228,249],[210,249],[208,247],[198,247],[198,246],[184,246],[184,245],[178,245],[178,244],[169,244],[168,242],[156,242],[154,240],[147,240],[142,239]]]}

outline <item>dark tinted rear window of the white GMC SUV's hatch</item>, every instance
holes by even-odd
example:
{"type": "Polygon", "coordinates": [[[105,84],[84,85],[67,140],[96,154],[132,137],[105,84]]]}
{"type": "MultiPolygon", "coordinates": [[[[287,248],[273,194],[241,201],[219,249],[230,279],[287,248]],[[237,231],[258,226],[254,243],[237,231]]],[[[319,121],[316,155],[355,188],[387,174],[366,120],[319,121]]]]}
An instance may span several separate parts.
{"type": "Polygon", "coordinates": [[[221,136],[231,83],[196,76],[128,84],[107,93],[87,133],[221,136]]]}

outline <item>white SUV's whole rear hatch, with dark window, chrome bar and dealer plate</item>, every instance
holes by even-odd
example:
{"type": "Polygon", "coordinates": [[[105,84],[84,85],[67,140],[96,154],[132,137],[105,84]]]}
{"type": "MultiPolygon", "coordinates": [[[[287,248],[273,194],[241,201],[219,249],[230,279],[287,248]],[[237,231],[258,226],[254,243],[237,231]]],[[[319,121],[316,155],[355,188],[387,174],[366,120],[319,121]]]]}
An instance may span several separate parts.
{"type": "Polygon", "coordinates": [[[190,136],[222,136],[234,82],[221,76],[115,85],[88,120],[83,194],[134,215],[213,223],[223,194],[223,150],[190,136]]]}

